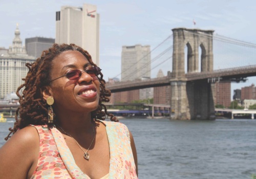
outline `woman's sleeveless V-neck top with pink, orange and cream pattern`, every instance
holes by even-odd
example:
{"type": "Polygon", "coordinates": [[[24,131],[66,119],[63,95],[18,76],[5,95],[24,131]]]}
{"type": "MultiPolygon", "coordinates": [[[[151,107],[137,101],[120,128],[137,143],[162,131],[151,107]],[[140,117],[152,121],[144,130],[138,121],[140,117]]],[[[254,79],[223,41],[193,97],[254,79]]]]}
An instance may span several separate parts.
{"type": "MultiPolygon", "coordinates": [[[[101,121],[106,127],[110,148],[109,174],[102,178],[138,178],[129,130],[119,122],[101,121]]],[[[38,162],[31,178],[87,178],[76,165],[62,133],[55,127],[32,125],[39,134],[38,162]]]]}

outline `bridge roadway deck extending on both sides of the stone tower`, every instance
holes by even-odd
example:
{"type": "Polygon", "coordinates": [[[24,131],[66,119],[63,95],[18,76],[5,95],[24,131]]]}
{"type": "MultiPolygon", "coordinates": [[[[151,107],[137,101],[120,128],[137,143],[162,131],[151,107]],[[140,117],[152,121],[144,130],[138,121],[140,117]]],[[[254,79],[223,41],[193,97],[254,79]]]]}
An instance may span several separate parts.
{"type": "MultiPolygon", "coordinates": [[[[256,65],[243,66],[239,68],[230,68],[224,70],[215,70],[212,72],[187,73],[185,78],[187,81],[204,80],[215,82],[219,80],[243,80],[243,78],[256,76],[256,65]]],[[[146,80],[121,81],[115,84],[106,83],[106,88],[112,93],[130,91],[134,89],[142,89],[147,87],[167,86],[170,85],[171,76],[161,78],[153,78],[146,80]]]]}

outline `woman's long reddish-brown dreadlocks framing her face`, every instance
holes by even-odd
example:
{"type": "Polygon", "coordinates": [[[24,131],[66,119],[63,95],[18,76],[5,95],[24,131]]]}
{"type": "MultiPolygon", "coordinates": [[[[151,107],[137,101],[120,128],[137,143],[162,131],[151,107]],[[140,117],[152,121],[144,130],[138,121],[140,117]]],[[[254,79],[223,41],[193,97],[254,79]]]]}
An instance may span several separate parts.
{"type": "MultiPolygon", "coordinates": [[[[56,44],[42,52],[41,57],[37,58],[33,63],[26,63],[29,69],[24,84],[17,88],[16,95],[19,97],[19,107],[15,113],[15,121],[13,128],[9,128],[9,135],[5,138],[8,140],[11,133],[15,133],[18,129],[22,129],[30,124],[44,125],[48,124],[48,108],[46,100],[42,95],[42,88],[50,84],[52,69],[52,60],[59,54],[65,51],[79,51],[88,59],[91,65],[97,66],[93,61],[91,55],[76,46],[75,44],[56,44]],[[22,94],[21,94],[22,93],[22,94]]],[[[98,77],[100,82],[100,99],[98,108],[91,112],[92,119],[105,120],[105,115],[110,117],[111,121],[118,122],[116,117],[108,113],[106,106],[102,102],[109,102],[111,92],[105,88],[105,80],[103,74],[99,72],[98,77]],[[104,111],[102,111],[102,107],[104,111]]]]}

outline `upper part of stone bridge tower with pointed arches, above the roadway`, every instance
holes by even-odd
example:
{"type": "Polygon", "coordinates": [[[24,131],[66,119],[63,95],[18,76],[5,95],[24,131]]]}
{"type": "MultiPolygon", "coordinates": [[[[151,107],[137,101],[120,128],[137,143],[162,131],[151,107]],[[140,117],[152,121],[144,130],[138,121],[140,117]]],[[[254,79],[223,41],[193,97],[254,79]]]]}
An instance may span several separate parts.
{"type": "Polygon", "coordinates": [[[213,71],[212,35],[213,30],[173,29],[173,77],[185,77],[185,62],[187,73],[213,71]],[[184,47],[187,47],[185,61],[184,47]],[[201,69],[199,69],[199,47],[201,48],[201,69]]]}

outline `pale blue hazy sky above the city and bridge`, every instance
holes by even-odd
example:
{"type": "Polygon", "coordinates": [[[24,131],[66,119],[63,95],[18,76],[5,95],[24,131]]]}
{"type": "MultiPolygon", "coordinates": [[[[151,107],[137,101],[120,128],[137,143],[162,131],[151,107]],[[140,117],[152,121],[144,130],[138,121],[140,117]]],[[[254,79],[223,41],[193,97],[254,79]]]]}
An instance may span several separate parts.
{"type": "MultiPolygon", "coordinates": [[[[256,43],[254,0],[0,0],[0,47],[12,44],[16,23],[23,44],[25,38],[35,36],[55,38],[55,12],[61,6],[82,4],[96,5],[100,14],[100,68],[106,81],[120,78],[122,46],[142,44],[153,49],[172,34],[173,28],[215,30],[215,34],[256,43]]],[[[241,88],[254,81],[251,77],[231,87],[241,88]]]]}

